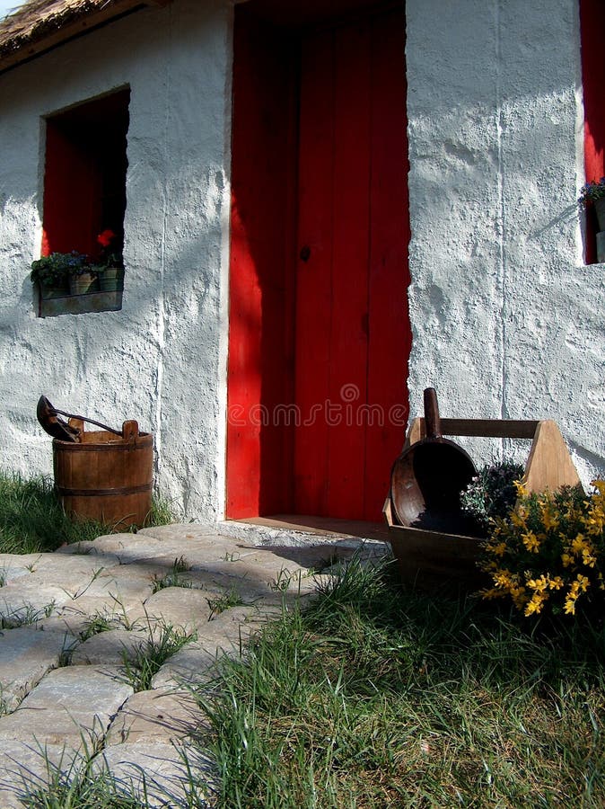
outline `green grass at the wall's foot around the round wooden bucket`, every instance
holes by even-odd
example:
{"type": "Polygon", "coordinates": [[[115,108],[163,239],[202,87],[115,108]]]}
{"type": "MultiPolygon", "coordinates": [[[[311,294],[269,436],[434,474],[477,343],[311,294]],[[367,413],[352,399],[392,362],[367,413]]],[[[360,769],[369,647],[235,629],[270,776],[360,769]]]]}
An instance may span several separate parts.
{"type": "MultiPolygon", "coordinates": [[[[148,525],[173,522],[170,505],[153,501],[148,525]]],[[[95,520],[71,520],[54,492],[52,480],[0,471],[0,553],[53,551],[67,543],[95,539],[112,526],[95,520]]]]}

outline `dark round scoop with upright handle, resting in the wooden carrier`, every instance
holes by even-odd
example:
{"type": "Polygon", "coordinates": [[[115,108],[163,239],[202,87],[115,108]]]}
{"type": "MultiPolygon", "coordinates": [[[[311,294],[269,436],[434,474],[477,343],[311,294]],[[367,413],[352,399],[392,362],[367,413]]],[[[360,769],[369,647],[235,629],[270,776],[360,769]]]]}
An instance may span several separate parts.
{"type": "Polygon", "coordinates": [[[390,502],[399,525],[448,534],[471,531],[473,521],[460,509],[460,492],[477,475],[468,452],[441,434],[437,394],[425,389],[426,438],[395,460],[390,502]]]}

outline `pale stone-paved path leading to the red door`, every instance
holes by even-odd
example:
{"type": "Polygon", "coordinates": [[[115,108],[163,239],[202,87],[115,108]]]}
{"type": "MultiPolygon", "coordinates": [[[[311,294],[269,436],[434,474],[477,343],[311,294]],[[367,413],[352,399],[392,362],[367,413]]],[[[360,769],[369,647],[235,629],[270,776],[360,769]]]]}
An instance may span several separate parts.
{"type": "Polygon", "coordinates": [[[311,597],[321,576],[310,568],[338,564],[362,540],[316,543],[255,547],[171,525],[0,554],[0,807],[22,806],[25,790],[88,761],[145,789],[150,806],[187,806],[183,751],[206,773],[211,805],[211,762],[190,742],[205,718],[187,684],[240,654],[284,603],[311,597]],[[151,680],[137,680],[160,653],[151,680]]]}

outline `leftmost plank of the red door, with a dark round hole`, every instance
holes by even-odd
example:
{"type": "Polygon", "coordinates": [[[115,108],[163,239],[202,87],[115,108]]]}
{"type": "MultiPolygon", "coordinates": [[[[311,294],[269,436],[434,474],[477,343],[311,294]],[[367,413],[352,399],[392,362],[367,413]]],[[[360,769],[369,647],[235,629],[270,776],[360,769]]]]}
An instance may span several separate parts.
{"type": "Polygon", "coordinates": [[[299,227],[296,277],[294,506],[327,513],[334,130],[332,31],[302,41],[299,227]],[[301,258],[302,256],[302,258],[301,258]]]}

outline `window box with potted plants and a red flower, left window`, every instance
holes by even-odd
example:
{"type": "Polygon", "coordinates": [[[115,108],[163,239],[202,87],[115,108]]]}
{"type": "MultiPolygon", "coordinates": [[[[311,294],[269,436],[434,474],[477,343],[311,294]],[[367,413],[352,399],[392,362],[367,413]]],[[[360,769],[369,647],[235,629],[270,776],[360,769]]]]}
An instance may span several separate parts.
{"type": "Polygon", "coordinates": [[[111,249],[115,239],[113,231],[102,231],[97,236],[101,250],[94,258],[73,250],[49,253],[31,263],[40,317],[121,309],[124,262],[121,251],[111,249]]]}

